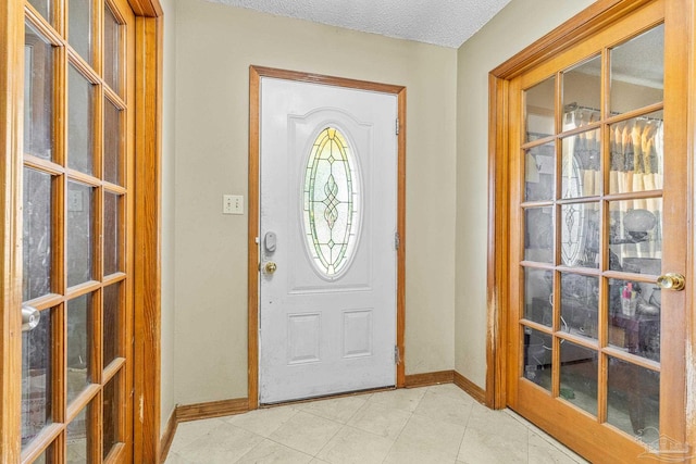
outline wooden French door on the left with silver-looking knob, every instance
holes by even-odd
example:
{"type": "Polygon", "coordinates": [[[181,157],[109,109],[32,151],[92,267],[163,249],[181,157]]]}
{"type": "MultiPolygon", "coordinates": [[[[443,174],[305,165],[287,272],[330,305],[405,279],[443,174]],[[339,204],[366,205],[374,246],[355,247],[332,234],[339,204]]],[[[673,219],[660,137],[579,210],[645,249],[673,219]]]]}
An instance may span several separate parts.
{"type": "Polygon", "coordinates": [[[132,462],[134,14],[28,0],[24,30],[22,461],[132,462]]]}

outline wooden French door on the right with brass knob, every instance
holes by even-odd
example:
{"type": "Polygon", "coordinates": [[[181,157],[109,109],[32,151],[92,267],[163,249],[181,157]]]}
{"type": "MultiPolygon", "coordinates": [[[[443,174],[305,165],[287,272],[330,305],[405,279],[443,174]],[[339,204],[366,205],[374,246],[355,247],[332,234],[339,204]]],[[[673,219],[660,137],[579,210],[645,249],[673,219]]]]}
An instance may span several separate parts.
{"type": "Polygon", "coordinates": [[[683,2],[625,3],[509,81],[507,398],[593,462],[685,460],[683,2]]]}

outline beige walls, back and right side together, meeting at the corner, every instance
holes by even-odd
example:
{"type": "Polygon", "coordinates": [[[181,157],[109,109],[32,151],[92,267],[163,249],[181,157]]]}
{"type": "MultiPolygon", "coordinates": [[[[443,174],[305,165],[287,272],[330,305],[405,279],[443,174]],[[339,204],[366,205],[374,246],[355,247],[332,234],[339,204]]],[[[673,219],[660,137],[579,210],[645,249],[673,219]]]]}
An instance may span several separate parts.
{"type": "Polygon", "coordinates": [[[163,423],[247,394],[247,216],[220,210],[248,198],[250,64],[407,86],[407,374],[484,387],[488,72],[591,3],[512,0],[457,51],[165,0],[163,423]]]}

